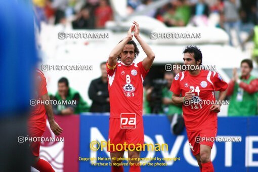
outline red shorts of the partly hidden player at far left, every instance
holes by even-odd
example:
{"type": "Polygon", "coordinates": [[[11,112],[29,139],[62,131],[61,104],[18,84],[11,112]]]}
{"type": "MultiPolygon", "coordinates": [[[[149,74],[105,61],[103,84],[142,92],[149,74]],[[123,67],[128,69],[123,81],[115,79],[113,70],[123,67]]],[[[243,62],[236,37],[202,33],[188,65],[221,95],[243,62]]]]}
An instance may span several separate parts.
{"type": "MultiPolygon", "coordinates": [[[[39,128],[29,127],[29,137],[42,137],[44,132],[39,128]]],[[[34,156],[39,156],[40,139],[37,139],[36,142],[30,142],[29,147],[34,156]]]]}

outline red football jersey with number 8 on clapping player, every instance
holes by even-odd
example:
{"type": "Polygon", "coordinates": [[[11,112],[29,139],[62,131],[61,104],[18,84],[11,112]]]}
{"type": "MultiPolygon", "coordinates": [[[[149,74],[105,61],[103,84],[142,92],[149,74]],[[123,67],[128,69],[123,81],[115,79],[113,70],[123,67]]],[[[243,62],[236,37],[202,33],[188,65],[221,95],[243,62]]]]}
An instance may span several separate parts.
{"type": "MultiPolygon", "coordinates": [[[[107,63],[108,65],[108,63],[107,63]]],[[[121,113],[143,114],[143,81],[149,70],[142,62],[125,65],[117,62],[112,70],[107,68],[110,117],[120,118],[121,113]]]]}

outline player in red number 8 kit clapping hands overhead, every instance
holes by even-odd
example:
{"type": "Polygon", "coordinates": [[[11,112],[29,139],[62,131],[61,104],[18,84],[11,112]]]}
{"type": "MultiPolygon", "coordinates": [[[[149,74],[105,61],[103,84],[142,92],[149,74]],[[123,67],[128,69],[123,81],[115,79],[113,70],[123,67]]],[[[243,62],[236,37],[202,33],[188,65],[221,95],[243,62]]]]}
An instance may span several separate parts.
{"type": "MultiPolygon", "coordinates": [[[[151,48],[140,37],[137,22],[130,27],[127,36],[111,51],[107,61],[108,90],[110,96],[109,142],[111,155],[111,171],[123,171],[121,163],[124,151],[144,144],[143,131],[143,81],[155,58],[151,48]],[[134,63],[139,50],[133,38],[141,45],[147,57],[139,63],[134,63]],[[124,145],[126,143],[127,145],[124,145]],[[115,145],[112,146],[111,144],[115,145]],[[116,145],[124,145],[117,147],[116,145]],[[137,145],[138,144],[138,145],[137,145]],[[113,157],[116,157],[113,159],[113,157]]],[[[140,151],[128,150],[130,171],[140,171],[140,151]],[[132,158],[134,158],[132,160],[132,158]]]]}

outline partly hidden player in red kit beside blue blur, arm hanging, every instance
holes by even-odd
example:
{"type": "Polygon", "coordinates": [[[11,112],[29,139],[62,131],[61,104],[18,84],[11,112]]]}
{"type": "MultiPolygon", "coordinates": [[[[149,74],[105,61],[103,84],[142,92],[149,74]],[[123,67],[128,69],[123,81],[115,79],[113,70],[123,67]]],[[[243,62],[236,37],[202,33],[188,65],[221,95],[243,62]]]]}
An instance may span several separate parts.
{"type": "MultiPolygon", "coordinates": [[[[47,91],[47,82],[44,74],[36,69],[35,73],[35,100],[38,101],[50,101],[48,91],[47,91]]],[[[55,135],[60,135],[63,129],[57,124],[54,120],[52,105],[50,103],[46,103],[45,105],[33,104],[33,106],[29,121],[28,121],[28,133],[29,137],[42,137],[46,128],[46,112],[48,114],[50,128],[55,135]]],[[[39,158],[39,147],[40,141],[30,142],[30,149],[34,156],[34,162],[32,166],[39,171],[54,171],[49,162],[39,158]]]]}

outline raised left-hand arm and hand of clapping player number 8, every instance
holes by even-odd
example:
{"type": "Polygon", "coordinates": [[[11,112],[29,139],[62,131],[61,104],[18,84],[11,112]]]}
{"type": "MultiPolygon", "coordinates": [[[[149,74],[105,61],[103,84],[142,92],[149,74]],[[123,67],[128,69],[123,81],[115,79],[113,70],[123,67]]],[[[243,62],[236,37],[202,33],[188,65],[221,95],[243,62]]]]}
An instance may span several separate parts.
{"type": "Polygon", "coordinates": [[[123,47],[127,44],[128,41],[132,40],[133,35],[132,31],[135,29],[135,25],[132,25],[130,29],[127,31],[127,36],[119,42],[115,48],[111,51],[111,53],[108,56],[108,65],[110,67],[113,67],[116,65],[116,58],[119,56],[119,54],[122,52],[123,47]]]}

